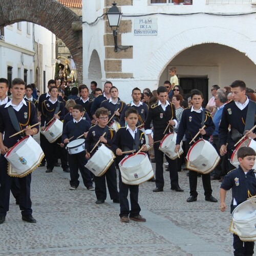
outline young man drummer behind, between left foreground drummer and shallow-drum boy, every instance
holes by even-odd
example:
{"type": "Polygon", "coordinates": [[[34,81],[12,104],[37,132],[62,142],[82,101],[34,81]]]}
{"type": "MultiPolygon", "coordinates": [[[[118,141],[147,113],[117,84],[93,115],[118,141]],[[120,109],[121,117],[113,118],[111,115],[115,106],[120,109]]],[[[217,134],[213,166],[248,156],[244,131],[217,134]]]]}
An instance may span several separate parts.
{"type": "MultiPolygon", "coordinates": [[[[42,103],[42,114],[41,114],[41,130],[45,131],[49,121],[52,118],[63,120],[65,110],[63,102],[57,99],[58,97],[58,88],[53,86],[50,88],[49,93],[51,97],[48,100],[45,100],[42,103]],[[60,114],[57,114],[60,112],[60,114]]],[[[69,167],[67,164],[67,153],[63,147],[60,147],[57,143],[61,142],[61,138],[58,138],[54,143],[50,143],[46,138],[45,147],[42,150],[45,153],[47,161],[47,170],[46,173],[52,173],[52,170],[55,165],[56,159],[58,156],[61,160],[61,167],[63,172],[69,173],[69,167]]]]}

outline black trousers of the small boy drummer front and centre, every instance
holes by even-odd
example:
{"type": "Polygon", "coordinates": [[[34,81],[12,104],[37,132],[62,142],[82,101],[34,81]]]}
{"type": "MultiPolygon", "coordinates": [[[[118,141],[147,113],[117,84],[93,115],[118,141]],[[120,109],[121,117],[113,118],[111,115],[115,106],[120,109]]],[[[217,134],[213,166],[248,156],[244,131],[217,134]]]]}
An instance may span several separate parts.
{"type": "Polygon", "coordinates": [[[122,183],[121,173],[119,171],[119,197],[120,197],[120,218],[122,216],[134,217],[140,214],[140,206],[138,203],[139,198],[139,185],[127,185],[122,183]],[[129,201],[127,199],[130,190],[131,210],[129,201]]]}

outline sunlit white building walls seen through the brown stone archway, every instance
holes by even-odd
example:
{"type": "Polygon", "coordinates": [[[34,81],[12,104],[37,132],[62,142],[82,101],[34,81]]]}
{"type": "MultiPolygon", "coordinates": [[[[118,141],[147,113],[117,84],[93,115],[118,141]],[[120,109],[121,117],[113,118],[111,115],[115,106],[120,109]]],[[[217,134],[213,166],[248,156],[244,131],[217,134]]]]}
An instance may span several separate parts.
{"type": "Polygon", "coordinates": [[[43,46],[42,59],[40,59],[41,81],[38,88],[42,91],[43,72],[46,71],[46,81],[54,78],[55,67],[52,65],[52,59],[55,59],[55,35],[39,25],[34,25],[33,30],[32,23],[30,23],[30,34],[28,34],[27,22],[20,24],[21,30],[17,29],[17,23],[5,27],[5,40],[0,40],[0,77],[7,78],[7,66],[11,66],[13,67],[12,78],[24,79],[24,69],[27,69],[27,83],[35,81],[35,40],[43,46]]]}

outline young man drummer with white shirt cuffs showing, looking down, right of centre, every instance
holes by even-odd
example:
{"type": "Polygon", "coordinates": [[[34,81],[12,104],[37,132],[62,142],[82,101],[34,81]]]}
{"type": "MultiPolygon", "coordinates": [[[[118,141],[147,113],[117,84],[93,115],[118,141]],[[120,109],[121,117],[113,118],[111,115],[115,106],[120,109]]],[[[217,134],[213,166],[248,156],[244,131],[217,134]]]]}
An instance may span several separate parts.
{"type": "MultiPolygon", "coordinates": [[[[175,106],[167,101],[168,94],[165,87],[160,86],[157,89],[158,102],[153,104],[149,111],[145,122],[145,134],[148,136],[148,143],[154,145],[155,159],[156,159],[156,188],[153,192],[161,192],[164,187],[163,179],[163,155],[164,153],[159,150],[160,140],[169,133],[169,129],[173,130],[173,127],[177,127],[177,120],[175,115],[175,106]],[[150,127],[151,121],[153,121],[154,127],[154,140],[151,136],[152,130],[150,127]],[[167,129],[166,126],[169,126],[167,129]]],[[[177,192],[183,192],[184,190],[179,186],[178,166],[177,160],[172,160],[165,156],[169,164],[170,175],[170,189],[177,192]]]]}

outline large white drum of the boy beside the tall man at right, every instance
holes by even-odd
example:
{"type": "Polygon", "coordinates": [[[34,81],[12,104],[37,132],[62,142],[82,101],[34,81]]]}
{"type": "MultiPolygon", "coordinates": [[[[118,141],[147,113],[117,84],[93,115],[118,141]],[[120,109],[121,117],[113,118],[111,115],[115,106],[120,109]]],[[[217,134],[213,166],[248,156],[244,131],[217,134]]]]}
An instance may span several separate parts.
{"type": "Polygon", "coordinates": [[[209,141],[199,139],[189,148],[186,159],[189,170],[208,174],[217,166],[220,156],[209,141]]]}

